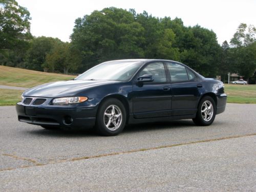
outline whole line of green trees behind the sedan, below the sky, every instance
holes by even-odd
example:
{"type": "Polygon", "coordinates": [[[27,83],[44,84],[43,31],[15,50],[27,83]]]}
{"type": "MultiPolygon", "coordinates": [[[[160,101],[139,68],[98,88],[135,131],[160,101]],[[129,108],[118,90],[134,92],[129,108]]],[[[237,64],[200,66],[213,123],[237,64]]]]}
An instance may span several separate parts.
{"type": "Polygon", "coordinates": [[[82,73],[100,62],[160,58],[185,63],[206,77],[238,73],[255,83],[256,29],[240,24],[229,44],[199,25],[181,18],[159,18],[115,7],[75,20],[70,42],[33,37],[30,13],[15,0],[0,3],[0,65],[37,71],[82,73]]]}

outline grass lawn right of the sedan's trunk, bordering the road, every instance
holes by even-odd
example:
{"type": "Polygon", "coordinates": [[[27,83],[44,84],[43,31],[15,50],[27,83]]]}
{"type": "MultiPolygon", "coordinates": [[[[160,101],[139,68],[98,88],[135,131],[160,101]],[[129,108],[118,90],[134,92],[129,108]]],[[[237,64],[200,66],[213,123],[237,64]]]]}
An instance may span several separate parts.
{"type": "Polygon", "coordinates": [[[256,84],[225,84],[229,103],[256,104],[256,84]]]}

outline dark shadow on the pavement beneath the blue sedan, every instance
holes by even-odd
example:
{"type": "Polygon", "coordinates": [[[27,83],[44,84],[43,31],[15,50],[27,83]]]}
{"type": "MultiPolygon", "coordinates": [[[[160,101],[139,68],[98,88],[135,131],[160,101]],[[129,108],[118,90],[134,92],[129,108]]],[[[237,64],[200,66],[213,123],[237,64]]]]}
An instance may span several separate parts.
{"type": "MultiPolygon", "coordinates": [[[[33,125],[33,129],[26,130],[26,134],[44,137],[104,137],[98,135],[95,129],[59,129],[59,130],[45,130],[40,126],[33,125]]],[[[124,127],[121,134],[137,133],[137,132],[152,132],[157,130],[170,130],[170,129],[183,129],[196,126],[191,120],[176,120],[168,122],[153,122],[153,123],[140,123],[130,124],[124,127]]]]}

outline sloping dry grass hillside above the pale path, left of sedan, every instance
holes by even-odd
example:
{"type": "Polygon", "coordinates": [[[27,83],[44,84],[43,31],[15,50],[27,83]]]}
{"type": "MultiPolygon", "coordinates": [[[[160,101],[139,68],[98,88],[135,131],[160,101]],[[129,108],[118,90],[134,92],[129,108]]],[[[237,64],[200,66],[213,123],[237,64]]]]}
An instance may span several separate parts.
{"type": "Polygon", "coordinates": [[[3,86],[16,86],[31,88],[47,82],[69,80],[72,75],[45,73],[26,69],[0,66],[0,84],[3,86]]]}

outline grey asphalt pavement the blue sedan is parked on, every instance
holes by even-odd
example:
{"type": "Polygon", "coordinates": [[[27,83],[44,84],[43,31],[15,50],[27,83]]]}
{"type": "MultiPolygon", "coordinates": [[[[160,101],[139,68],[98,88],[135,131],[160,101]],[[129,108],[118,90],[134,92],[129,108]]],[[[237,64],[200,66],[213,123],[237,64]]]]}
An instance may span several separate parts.
{"type": "Polygon", "coordinates": [[[138,124],[116,137],[0,114],[0,191],[256,191],[256,104],[227,104],[207,127],[138,124]]]}

